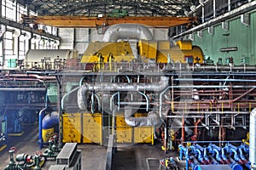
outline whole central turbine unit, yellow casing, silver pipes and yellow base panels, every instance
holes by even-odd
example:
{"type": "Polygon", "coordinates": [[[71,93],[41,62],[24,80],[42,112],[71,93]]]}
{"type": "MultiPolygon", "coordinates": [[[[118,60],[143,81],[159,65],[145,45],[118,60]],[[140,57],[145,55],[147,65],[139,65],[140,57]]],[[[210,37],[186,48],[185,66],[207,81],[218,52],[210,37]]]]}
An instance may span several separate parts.
{"type": "Polygon", "coordinates": [[[155,127],[170,108],[159,106],[160,98],[170,99],[165,94],[170,77],[158,70],[203,60],[201,48],[191,42],[153,40],[145,26],[108,28],[80,60],[87,71],[62,73],[62,142],[106,144],[114,134],[117,143],[154,144],[155,127]]]}

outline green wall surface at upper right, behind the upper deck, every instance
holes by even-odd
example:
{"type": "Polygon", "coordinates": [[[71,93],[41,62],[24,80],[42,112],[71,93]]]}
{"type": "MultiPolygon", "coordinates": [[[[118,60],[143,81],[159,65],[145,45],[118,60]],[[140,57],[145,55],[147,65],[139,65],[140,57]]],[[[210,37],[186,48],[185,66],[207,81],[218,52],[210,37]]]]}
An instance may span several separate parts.
{"type": "Polygon", "coordinates": [[[256,13],[251,14],[250,26],[241,23],[241,18],[229,21],[230,29],[224,30],[220,25],[214,26],[214,35],[203,30],[203,37],[195,34],[193,45],[201,47],[205,56],[209,56],[215,63],[218,58],[226,64],[226,58],[232,57],[235,65],[241,65],[241,58],[247,57],[248,63],[256,64],[256,13]],[[220,48],[237,47],[237,51],[220,52],[220,48]]]}

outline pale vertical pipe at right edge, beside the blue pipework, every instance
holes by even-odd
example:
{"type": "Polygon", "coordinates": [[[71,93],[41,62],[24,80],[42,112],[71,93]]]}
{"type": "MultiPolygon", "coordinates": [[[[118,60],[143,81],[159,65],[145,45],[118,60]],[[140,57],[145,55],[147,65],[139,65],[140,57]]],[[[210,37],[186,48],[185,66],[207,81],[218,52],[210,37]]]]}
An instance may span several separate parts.
{"type": "Polygon", "coordinates": [[[250,144],[249,144],[249,160],[251,166],[256,168],[256,108],[250,114],[250,144]]]}

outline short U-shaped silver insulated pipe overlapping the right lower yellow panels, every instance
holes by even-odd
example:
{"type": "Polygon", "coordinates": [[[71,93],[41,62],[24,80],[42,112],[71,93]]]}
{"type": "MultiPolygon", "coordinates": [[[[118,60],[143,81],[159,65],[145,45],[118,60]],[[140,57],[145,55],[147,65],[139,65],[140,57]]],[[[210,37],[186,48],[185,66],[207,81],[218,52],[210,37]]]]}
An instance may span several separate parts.
{"type": "Polygon", "coordinates": [[[149,111],[148,116],[133,117],[135,111],[125,108],[125,122],[131,127],[156,126],[160,123],[160,116],[154,111],[149,111]]]}

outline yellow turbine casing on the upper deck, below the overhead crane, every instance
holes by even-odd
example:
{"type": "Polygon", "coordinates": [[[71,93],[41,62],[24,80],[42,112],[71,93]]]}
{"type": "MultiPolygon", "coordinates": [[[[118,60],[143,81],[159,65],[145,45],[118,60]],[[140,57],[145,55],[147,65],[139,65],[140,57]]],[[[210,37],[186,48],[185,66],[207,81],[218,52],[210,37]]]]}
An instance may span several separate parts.
{"type": "MultiPolygon", "coordinates": [[[[178,41],[171,45],[170,41],[140,40],[137,42],[140,59],[148,63],[203,63],[201,48],[192,46],[189,41],[178,41]]],[[[138,59],[131,49],[129,42],[91,42],[84,52],[81,63],[94,63],[97,68],[104,64],[131,62],[138,59]]]]}

